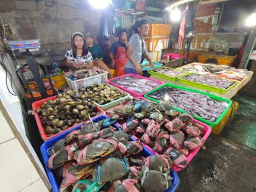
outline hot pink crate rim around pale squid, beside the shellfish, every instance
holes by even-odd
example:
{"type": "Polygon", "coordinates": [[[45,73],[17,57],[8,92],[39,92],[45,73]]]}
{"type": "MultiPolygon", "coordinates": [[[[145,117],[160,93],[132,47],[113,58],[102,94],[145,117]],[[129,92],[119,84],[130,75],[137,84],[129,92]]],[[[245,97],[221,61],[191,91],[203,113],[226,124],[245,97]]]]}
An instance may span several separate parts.
{"type": "Polygon", "coordinates": [[[117,84],[111,82],[111,81],[113,81],[113,80],[115,80],[115,79],[121,79],[121,78],[127,77],[127,76],[139,77],[139,78],[141,78],[141,79],[149,79],[149,80],[151,80],[151,81],[155,81],[155,82],[159,83],[159,85],[158,85],[157,87],[159,87],[160,85],[163,85],[163,83],[164,83],[163,81],[157,81],[157,80],[155,80],[155,79],[151,79],[151,78],[148,78],[148,77],[143,77],[143,76],[141,76],[141,75],[135,75],[135,74],[131,74],[131,73],[126,74],[126,75],[122,75],[122,76],[119,76],[119,77],[115,77],[115,78],[113,78],[113,79],[109,79],[109,81],[107,81],[107,83],[109,83],[110,85],[114,85],[115,87],[118,87],[119,89],[122,89],[123,91],[129,93],[129,94],[132,95],[133,97],[143,97],[143,95],[145,95],[145,94],[148,93],[149,91],[151,91],[151,90],[153,90],[153,89],[156,88],[156,87],[154,87],[154,88],[152,88],[152,89],[146,91],[145,93],[137,93],[137,92],[135,92],[135,91],[130,91],[129,89],[126,89],[125,87],[122,87],[121,85],[117,85],[117,84]]]}

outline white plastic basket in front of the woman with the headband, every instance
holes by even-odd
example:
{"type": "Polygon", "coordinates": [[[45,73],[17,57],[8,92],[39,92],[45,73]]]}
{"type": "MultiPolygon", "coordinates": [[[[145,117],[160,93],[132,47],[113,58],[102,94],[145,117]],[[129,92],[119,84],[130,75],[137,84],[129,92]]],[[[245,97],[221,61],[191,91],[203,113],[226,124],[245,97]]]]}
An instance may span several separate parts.
{"type": "Polygon", "coordinates": [[[67,85],[73,90],[81,90],[85,89],[85,87],[89,87],[93,84],[102,84],[102,83],[107,83],[107,73],[101,73],[99,75],[95,75],[92,77],[86,77],[85,79],[79,79],[76,81],[72,81],[68,77],[65,77],[67,81],[67,85]]]}

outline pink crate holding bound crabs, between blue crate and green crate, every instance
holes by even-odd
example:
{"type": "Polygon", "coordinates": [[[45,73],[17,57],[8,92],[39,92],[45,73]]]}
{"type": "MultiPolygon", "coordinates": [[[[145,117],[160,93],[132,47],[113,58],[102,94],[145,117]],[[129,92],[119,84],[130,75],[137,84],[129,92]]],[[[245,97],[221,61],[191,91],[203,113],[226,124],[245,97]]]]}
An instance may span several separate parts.
{"type": "MultiPolygon", "coordinates": [[[[137,99],[146,99],[145,97],[137,97],[137,99]]],[[[146,99],[147,101],[150,101],[149,99],[146,99]]],[[[151,101],[153,102],[153,101],[151,101]]],[[[211,134],[211,127],[209,127],[209,125],[206,125],[205,123],[202,123],[201,121],[198,121],[197,119],[193,119],[193,122],[198,123],[200,125],[203,125],[203,127],[205,127],[205,131],[204,131],[204,135],[203,138],[201,139],[201,146],[197,147],[196,149],[190,150],[189,151],[189,155],[187,155],[187,165],[189,164],[189,162],[193,159],[193,157],[195,157],[195,155],[197,155],[197,153],[199,152],[199,150],[201,149],[201,147],[203,146],[203,144],[205,143],[206,139],[209,137],[209,135],[211,134]]],[[[119,124],[119,127],[121,127],[121,125],[119,124]]],[[[135,135],[132,135],[132,137],[134,139],[138,139],[138,137],[136,137],[135,135]]],[[[138,139],[139,140],[139,139],[138,139]]],[[[149,149],[149,151],[151,151],[153,154],[157,155],[158,153],[156,151],[154,151],[151,147],[149,147],[149,145],[145,145],[144,143],[142,143],[144,147],[146,147],[147,149],[149,149]]],[[[187,167],[187,165],[185,165],[185,167],[187,167]]],[[[184,169],[185,169],[184,167],[184,169]]],[[[182,169],[179,167],[176,167],[175,165],[173,165],[172,169],[174,171],[181,171],[182,169]]]]}

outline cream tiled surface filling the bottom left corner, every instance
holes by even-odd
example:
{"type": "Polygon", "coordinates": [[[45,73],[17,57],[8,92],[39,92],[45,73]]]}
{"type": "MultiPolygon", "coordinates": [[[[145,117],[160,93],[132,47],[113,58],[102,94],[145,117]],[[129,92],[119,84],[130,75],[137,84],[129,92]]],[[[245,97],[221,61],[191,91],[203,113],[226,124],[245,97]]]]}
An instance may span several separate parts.
{"type": "Polygon", "coordinates": [[[1,111],[0,122],[1,191],[48,191],[19,141],[15,139],[1,111]]]}

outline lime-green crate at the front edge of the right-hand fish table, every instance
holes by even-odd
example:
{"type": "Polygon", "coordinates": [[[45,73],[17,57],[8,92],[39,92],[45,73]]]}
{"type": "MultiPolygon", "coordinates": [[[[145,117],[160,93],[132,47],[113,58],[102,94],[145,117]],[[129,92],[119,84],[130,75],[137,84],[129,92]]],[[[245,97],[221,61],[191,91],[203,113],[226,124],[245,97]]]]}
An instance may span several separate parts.
{"type": "MultiPolygon", "coordinates": [[[[198,73],[190,73],[190,74],[201,75],[201,74],[198,74],[198,73]]],[[[189,74],[187,74],[187,75],[189,75],[189,74]]],[[[184,76],[186,76],[186,75],[183,75],[183,77],[184,76]]],[[[224,93],[226,93],[227,91],[229,91],[230,89],[235,87],[235,85],[237,85],[237,81],[234,81],[234,80],[231,80],[231,79],[225,79],[225,78],[218,78],[218,79],[225,79],[225,80],[228,80],[228,81],[234,81],[235,83],[227,89],[221,89],[221,88],[218,88],[218,87],[212,87],[212,86],[205,85],[205,84],[202,84],[202,83],[197,83],[197,82],[194,82],[194,81],[188,81],[186,79],[181,79],[181,77],[178,77],[177,79],[179,80],[179,83],[182,83],[184,85],[189,85],[191,87],[197,87],[199,89],[205,89],[207,91],[212,91],[212,92],[215,92],[215,93],[219,93],[221,95],[223,95],[224,93]]]]}

